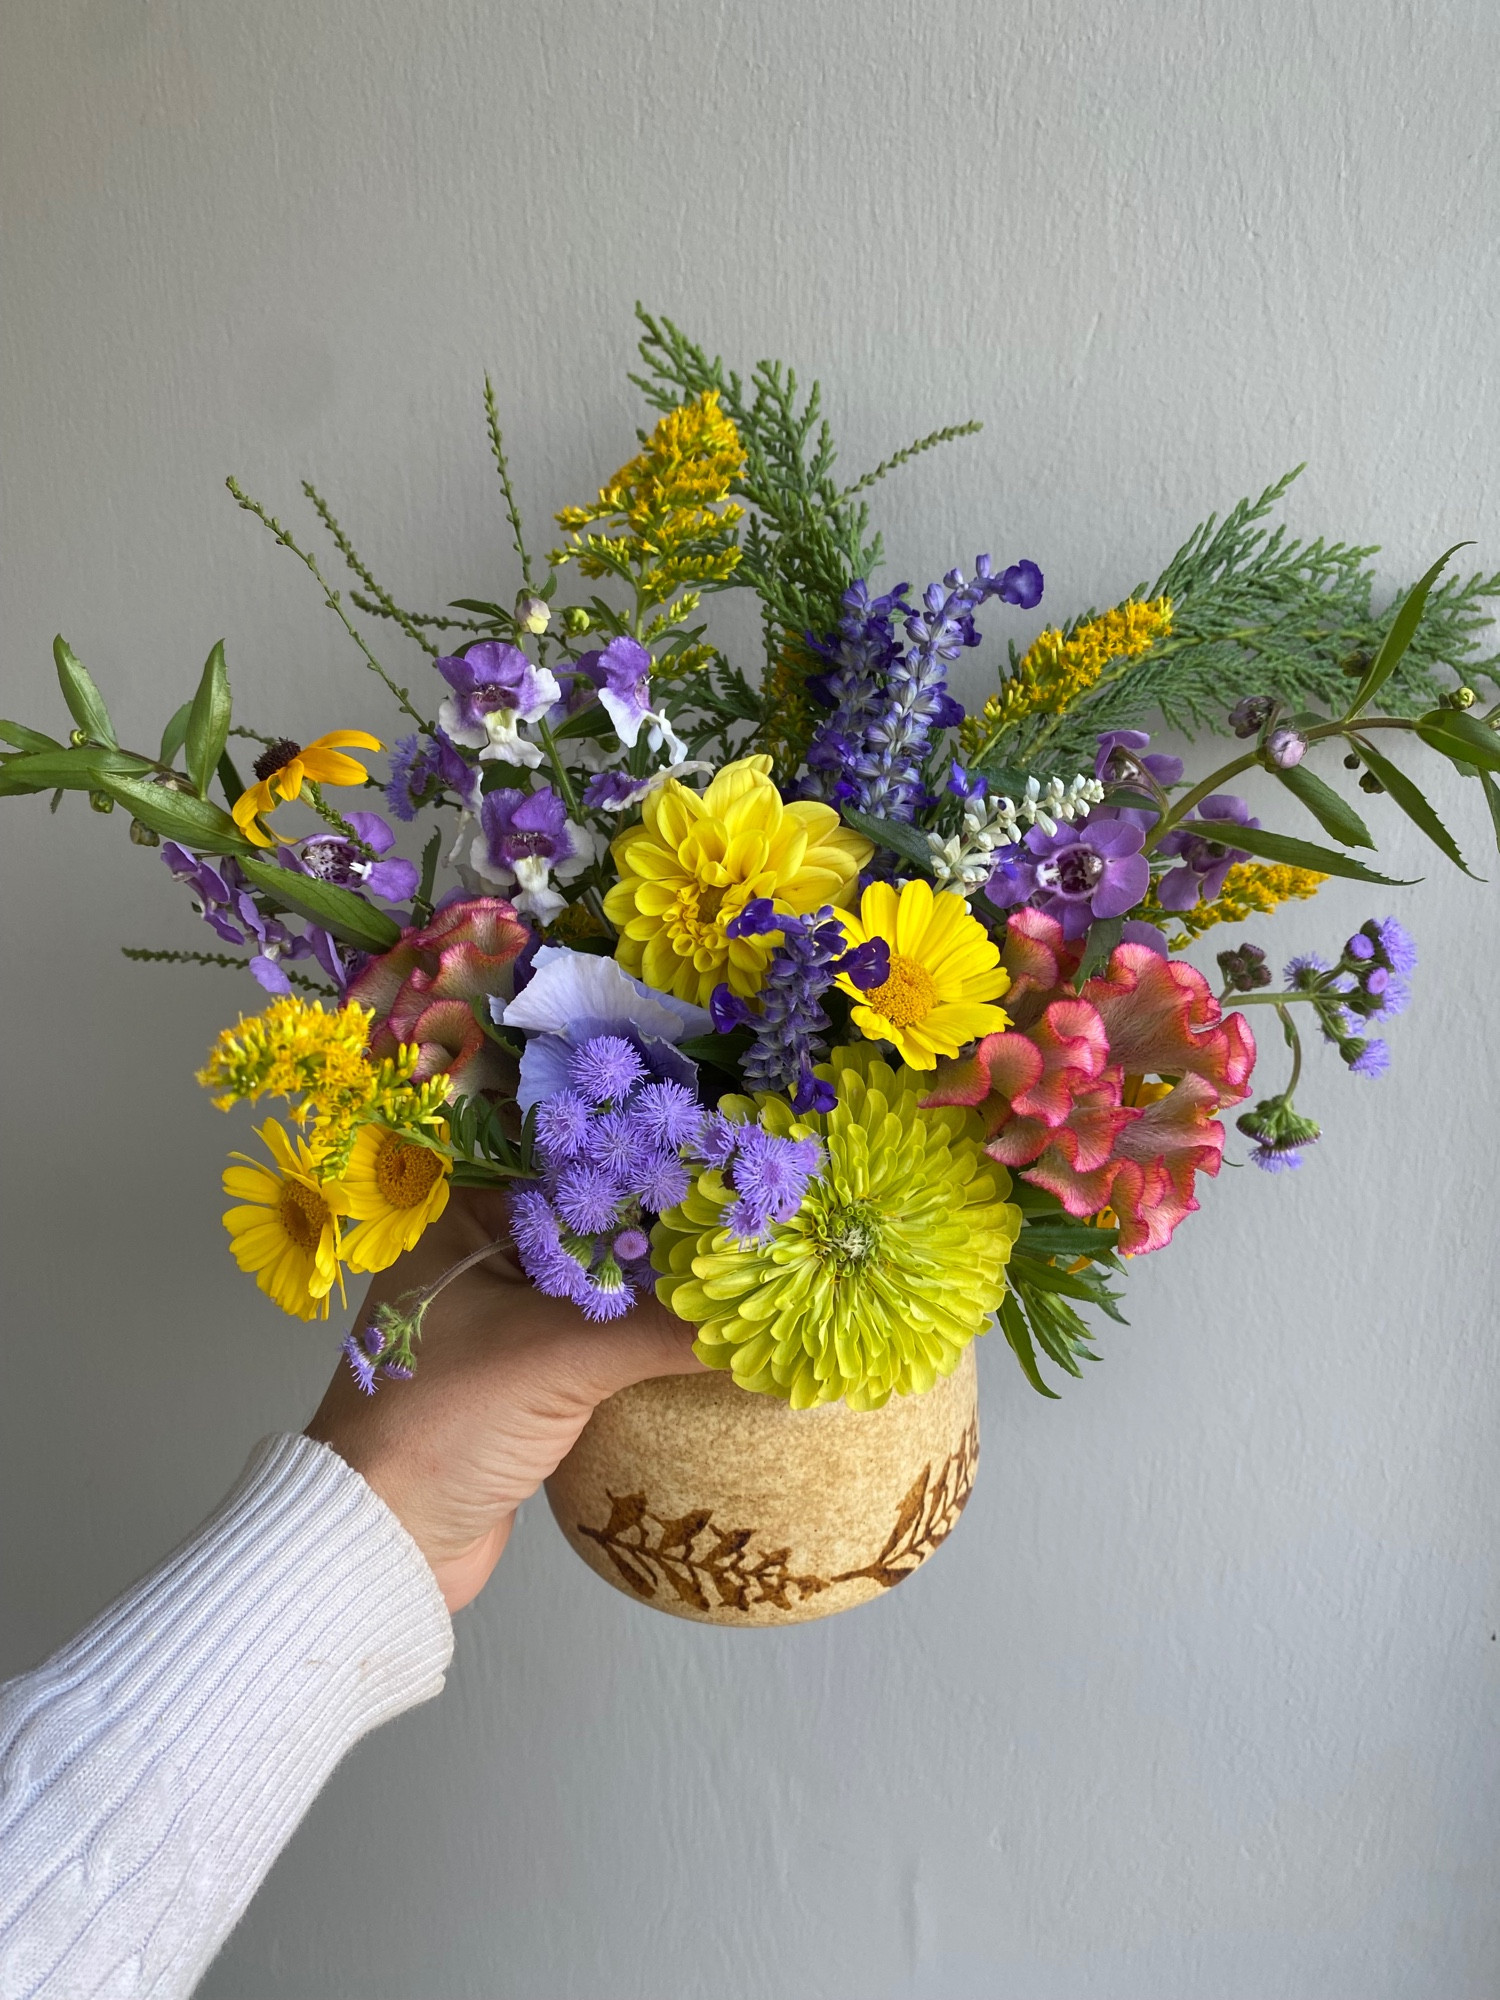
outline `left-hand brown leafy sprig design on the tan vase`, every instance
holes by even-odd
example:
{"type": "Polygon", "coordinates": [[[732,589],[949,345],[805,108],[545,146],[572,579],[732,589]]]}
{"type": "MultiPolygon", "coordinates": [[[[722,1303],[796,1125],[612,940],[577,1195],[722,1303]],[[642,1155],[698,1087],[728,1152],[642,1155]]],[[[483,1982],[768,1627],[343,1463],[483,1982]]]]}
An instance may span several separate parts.
{"type": "Polygon", "coordinates": [[[828,1588],[820,1576],[792,1576],[788,1548],[752,1554],[756,1530],[718,1528],[712,1508],[662,1520],[652,1514],[646,1494],[610,1494],[604,1526],[580,1520],[578,1532],[600,1544],[636,1596],[670,1590],[700,1612],[748,1612],[758,1604],[786,1612],[828,1588]]]}

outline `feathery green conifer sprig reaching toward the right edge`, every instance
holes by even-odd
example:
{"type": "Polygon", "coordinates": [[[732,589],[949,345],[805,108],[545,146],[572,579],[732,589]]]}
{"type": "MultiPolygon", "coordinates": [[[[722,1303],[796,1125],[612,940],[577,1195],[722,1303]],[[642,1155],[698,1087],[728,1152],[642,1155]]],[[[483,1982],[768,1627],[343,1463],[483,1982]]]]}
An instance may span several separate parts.
{"type": "Polygon", "coordinates": [[[1244,694],[1270,694],[1290,710],[1316,706],[1342,714],[1350,676],[1360,676],[1360,684],[1372,676],[1402,608],[1422,584],[1428,590],[1418,602],[1420,624],[1396,632],[1406,644],[1392,648],[1394,658],[1386,654],[1388,712],[1414,716],[1430,708],[1444,672],[1494,680],[1500,652],[1482,654],[1478,634],[1490,626],[1486,602],[1500,598],[1500,572],[1434,584],[1442,568],[1436,564],[1414,592],[1376,612],[1370,566],[1376,546],[1322,536],[1304,542],[1284,526],[1264,526],[1300,470],[1256,500],[1240,500],[1224,520],[1210,516],[1154,584],[1138,584],[1130,596],[1172,598],[1172,636],[1106,674],[1068,714],[1034,718],[1008,732],[1006,756],[1030,764],[1046,746],[1060,768],[1086,768],[1102,730],[1140,728],[1158,716],[1186,734],[1222,730],[1244,694]]]}

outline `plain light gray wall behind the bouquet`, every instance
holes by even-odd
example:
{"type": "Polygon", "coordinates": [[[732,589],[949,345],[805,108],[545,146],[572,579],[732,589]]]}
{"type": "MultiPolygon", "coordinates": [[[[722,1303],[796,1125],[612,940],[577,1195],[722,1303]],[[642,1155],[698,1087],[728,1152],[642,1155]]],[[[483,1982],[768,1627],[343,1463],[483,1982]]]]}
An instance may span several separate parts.
{"type": "MultiPolygon", "coordinates": [[[[386,726],[224,474],[298,520],[320,478],[408,600],[506,594],[480,374],[544,540],[630,450],[638,294],[820,374],[852,470],[986,420],[882,490],[902,576],[1030,554],[1066,614],[1300,458],[1294,524],[1392,582],[1496,566],[1498,58],[1484,0],[8,0],[4,710],[58,716],[64,628],[148,738],[224,634],[244,716],[386,726]]],[[[1226,1170],[1060,1404],[982,1356],[942,1558],[736,1636],[528,1508],[208,1994],[1496,1992],[1500,888],[1372,818],[1422,892],[1274,950],[1410,920],[1394,1074],[1318,1062],[1318,1156],[1226,1170]]],[[[0,824],[12,1672],[302,1424],[334,1334],[224,1254],[244,1130],[192,1070],[246,994],[118,958],[204,942],[122,816],[0,824]]]]}

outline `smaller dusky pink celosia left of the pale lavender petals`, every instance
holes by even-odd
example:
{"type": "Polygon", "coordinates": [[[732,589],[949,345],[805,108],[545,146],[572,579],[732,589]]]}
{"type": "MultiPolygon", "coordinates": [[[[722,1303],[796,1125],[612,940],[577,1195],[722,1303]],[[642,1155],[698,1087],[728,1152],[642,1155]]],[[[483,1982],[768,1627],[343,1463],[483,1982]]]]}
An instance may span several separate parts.
{"type": "Polygon", "coordinates": [[[370,1054],[416,1042],[416,1078],[448,1078],[448,1096],[514,1086],[514,1064],[486,1036],[470,1002],[510,992],[512,964],[530,938],[502,896],[470,896],[372,958],[348,998],[376,1010],[370,1054]]]}

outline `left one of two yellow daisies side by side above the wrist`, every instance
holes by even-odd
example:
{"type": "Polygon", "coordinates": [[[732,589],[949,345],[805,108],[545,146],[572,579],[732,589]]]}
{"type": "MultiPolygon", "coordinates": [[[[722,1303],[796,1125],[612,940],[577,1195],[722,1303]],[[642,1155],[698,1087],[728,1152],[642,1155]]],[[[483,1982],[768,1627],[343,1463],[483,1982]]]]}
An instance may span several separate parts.
{"type": "Polygon", "coordinates": [[[234,1152],[230,1158],[240,1166],[224,1168],[224,1192],[240,1202],[224,1210],[234,1262],[256,1274],[282,1312],[326,1320],[334,1284],[344,1296],[338,1238],[338,1218],[348,1206],[344,1190],[318,1180],[318,1150],[288,1138],[274,1118],[258,1136],[274,1166],[234,1152]]]}

